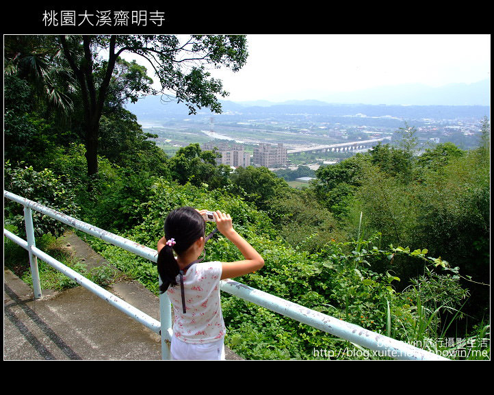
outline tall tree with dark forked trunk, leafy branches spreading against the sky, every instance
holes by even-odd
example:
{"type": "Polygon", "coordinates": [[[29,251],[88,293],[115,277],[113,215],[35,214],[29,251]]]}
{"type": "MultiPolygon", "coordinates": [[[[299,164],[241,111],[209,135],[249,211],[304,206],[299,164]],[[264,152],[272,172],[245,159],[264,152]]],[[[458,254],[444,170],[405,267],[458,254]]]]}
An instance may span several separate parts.
{"type": "MultiPolygon", "coordinates": [[[[238,71],[247,58],[245,36],[190,36],[180,42],[177,36],[60,36],[64,57],[79,85],[83,110],[88,175],[98,173],[99,123],[112,82],[122,87],[121,97],[137,101],[143,94],[166,94],[185,103],[194,114],[208,107],[221,112],[216,97],[226,97],[222,81],[211,77],[207,66],[226,66],[238,71]],[[147,60],[161,84],[142,73],[135,62],[122,62],[122,53],[133,53],[147,60]],[[103,58],[102,53],[105,53],[103,58]],[[120,66],[125,68],[122,73],[120,66]]],[[[112,92],[115,97],[115,92],[112,92]]]]}

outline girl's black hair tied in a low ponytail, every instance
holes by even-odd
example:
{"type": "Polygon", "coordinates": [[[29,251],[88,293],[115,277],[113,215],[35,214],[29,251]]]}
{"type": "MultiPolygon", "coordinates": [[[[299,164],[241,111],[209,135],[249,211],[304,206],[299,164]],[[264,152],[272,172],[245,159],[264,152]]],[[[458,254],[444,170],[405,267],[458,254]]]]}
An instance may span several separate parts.
{"type": "Polygon", "coordinates": [[[187,251],[198,238],[205,237],[205,227],[203,216],[192,207],[180,207],[168,213],[164,226],[165,238],[166,240],[173,238],[175,244],[165,245],[158,254],[157,266],[162,282],[159,286],[160,293],[168,290],[170,286],[177,285],[180,268],[173,250],[177,255],[187,251]]]}

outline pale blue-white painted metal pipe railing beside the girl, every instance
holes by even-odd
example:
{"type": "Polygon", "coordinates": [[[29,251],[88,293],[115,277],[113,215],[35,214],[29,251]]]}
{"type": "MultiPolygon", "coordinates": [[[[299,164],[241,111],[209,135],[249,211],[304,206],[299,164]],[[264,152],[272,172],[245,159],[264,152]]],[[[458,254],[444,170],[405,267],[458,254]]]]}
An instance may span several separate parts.
{"type": "MultiPolygon", "coordinates": [[[[33,221],[31,215],[31,209],[41,212],[55,220],[79,229],[80,231],[86,232],[90,235],[100,238],[105,242],[119,246],[135,255],[149,259],[151,262],[157,261],[157,251],[155,249],[150,249],[142,244],[138,244],[129,239],[122,238],[119,235],[110,233],[98,227],[94,227],[86,222],[77,220],[73,217],[57,212],[54,209],[40,205],[29,199],[25,199],[21,196],[13,194],[12,192],[3,191],[3,196],[6,199],[10,199],[24,206],[24,219],[26,227],[26,238],[23,240],[17,235],[7,229],[3,229],[3,234],[5,237],[9,238],[16,244],[22,246],[29,252],[29,263],[31,266],[31,276],[33,279],[34,297],[42,298],[42,292],[40,288],[40,279],[38,275],[38,261],[37,258],[42,259],[53,268],[64,273],[70,279],[73,279],[86,289],[94,292],[100,298],[103,298],[114,307],[120,309],[125,314],[131,318],[137,320],[138,322],[144,324],[144,326],[151,329],[153,332],[161,335],[161,357],[162,359],[170,359],[170,341],[172,338],[172,315],[171,315],[171,303],[170,299],[164,294],[159,296],[159,311],[160,311],[160,321],[144,314],[139,309],[136,309],[129,303],[123,301],[122,299],[114,296],[111,292],[108,292],[99,285],[96,285],[92,281],[86,279],[79,273],[68,268],[61,262],[58,262],[53,257],[47,255],[40,249],[36,248],[36,241],[34,239],[34,229],[33,221]]],[[[161,283],[161,279],[159,279],[161,283]]],[[[393,359],[413,359],[413,360],[447,360],[447,358],[442,357],[436,353],[431,353],[429,351],[422,350],[412,346],[411,344],[406,344],[405,342],[400,342],[399,340],[394,340],[391,337],[380,335],[379,333],[368,331],[356,324],[350,324],[343,320],[322,314],[319,311],[312,309],[307,309],[296,303],[292,303],[283,298],[278,298],[263,292],[261,290],[256,290],[248,285],[244,285],[237,281],[231,279],[222,280],[220,282],[220,290],[237,296],[251,303],[255,303],[266,309],[270,309],[278,314],[293,318],[304,324],[320,329],[331,335],[340,337],[343,340],[358,344],[369,350],[374,351],[374,355],[391,357],[393,359]]],[[[318,352],[318,351],[317,351],[318,352]]]]}

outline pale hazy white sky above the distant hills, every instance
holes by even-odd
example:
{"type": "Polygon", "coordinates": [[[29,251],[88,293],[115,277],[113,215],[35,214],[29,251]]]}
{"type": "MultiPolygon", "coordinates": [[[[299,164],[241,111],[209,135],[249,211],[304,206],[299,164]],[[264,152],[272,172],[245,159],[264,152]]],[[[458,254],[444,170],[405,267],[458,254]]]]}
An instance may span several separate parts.
{"type": "Polygon", "coordinates": [[[378,86],[491,77],[487,35],[248,35],[247,64],[218,75],[232,101],[317,99],[378,86]]]}

